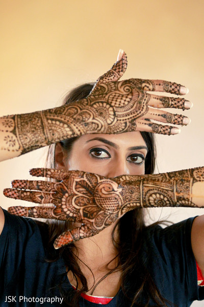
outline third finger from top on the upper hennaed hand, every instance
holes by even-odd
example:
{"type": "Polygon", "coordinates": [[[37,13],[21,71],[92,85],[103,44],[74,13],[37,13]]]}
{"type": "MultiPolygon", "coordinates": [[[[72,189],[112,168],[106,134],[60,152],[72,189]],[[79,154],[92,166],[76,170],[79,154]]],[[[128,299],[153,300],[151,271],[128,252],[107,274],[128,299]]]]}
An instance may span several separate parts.
{"type": "Polygon", "coordinates": [[[190,118],[186,116],[181,114],[172,114],[154,108],[148,108],[148,112],[141,119],[147,118],[174,125],[188,125],[190,123],[190,118]]]}

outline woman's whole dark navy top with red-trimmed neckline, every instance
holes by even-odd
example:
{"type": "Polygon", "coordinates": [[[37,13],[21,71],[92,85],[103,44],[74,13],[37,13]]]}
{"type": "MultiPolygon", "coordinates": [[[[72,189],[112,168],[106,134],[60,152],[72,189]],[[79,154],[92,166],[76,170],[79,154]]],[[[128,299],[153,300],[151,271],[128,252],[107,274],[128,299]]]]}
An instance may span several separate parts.
{"type": "MultiPolygon", "coordinates": [[[[52,263],[45,261],[43,242],[47,240],[46,227],[41,227],[31,218],[14,216],[6,210],[4,213],[5,226],[0,236],[0,306],[64,306],[55,286],[66,268],[62,258],[52,263]]],[[[189,218],[164,229],[160,226],[148,228],[142,245],[142,257],[146,259],[159,291],[179,307],[204,299],[204,287],[197,286],[191,248],[192,222],[193,218],[189,218]]],[[[72,289],[68,278],[64,280],[63,289],[72,289]]],[[[104,306],[130,305],[119,290],[104,306]]],[[[96,307],[99,304],[81,298],[80,306],[96,307]]],[[[155,303],[150,301],[149,306],[155,306],[155,303]]]]}

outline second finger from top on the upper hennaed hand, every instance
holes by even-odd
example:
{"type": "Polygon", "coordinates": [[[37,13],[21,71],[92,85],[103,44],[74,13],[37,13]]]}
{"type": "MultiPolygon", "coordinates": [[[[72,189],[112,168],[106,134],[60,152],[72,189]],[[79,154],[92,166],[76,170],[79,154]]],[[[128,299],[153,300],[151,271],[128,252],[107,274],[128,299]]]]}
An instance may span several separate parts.
{"type": "Polygon", "coordinates": [[[158,107],[158,108],[177,108],[177,109],[189,109],[193,106],[192,102],[185,100],[184,98],[174,98],[174,97],[165,97],[150,95],[148,102],[149,106],[158,107]]]}

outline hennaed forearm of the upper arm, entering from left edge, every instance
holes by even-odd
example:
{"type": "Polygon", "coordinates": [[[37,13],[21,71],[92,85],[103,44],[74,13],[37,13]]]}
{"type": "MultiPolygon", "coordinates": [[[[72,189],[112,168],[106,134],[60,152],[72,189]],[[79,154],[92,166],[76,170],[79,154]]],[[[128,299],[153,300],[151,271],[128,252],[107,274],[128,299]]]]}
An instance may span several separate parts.
{"type": "Polygon", "coordinates": [[[82,134],[83,118],[77,122],[62,106],[4,116],[0,118],[0,161],[82,134]]]}

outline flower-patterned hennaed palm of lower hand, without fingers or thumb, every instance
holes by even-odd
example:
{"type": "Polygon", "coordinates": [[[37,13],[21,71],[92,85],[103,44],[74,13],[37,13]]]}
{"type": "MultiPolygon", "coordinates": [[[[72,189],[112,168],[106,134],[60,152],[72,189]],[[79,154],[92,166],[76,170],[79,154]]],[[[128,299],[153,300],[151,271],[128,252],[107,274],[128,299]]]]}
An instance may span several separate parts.
{"type": "Polygon", "coordinates": [[[89,222],[94,229],[102,230],[118,217],[122,207],[120,190],[117,183],[96,174],[70,171],[55,184],[51,202],[62,210],[60,220],[72,217],[75,222],[89,222]]]}

